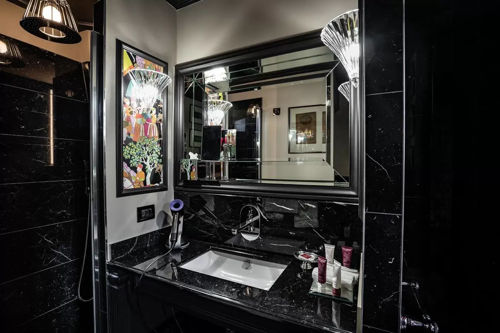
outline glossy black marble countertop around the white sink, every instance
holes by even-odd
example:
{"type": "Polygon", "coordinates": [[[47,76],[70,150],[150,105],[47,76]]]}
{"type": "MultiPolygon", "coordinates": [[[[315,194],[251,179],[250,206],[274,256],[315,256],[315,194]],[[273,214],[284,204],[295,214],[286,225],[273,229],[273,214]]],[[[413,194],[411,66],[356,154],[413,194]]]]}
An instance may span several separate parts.
{"type": "MultiPolygon", "coordinates": [[[[331,299],[308,294],[312,283],[311,271],[302,271],[299,261],[291,257],[265,255],[264,260],[289,262],[287,268],[268,290],[248,288],[241,284],[211,277],[205,274],[178,267],[210,248],[234,251],[234,248],[192,241],[180,253],[168,254],[151,265],[145,275],[155,277],[166,283],[200,292],[240,308],[279,317],[297,324],[322,329],[327,332],[356,332],[356,305],[347,305],[331,299]],[[172,265],[171,263],[177,263],[172,265]],[[173,268],[172,268],[173,266],[173,268]],[[176,271],[176,274],[175,272],[176,271]]],[[[142,271],[158,256],[166,253],[165,248],[148,247],[111,260],[135,273],[142,271]]],[[[244,251],[249,257],[262,258],[258,252],[244,251]]]]}

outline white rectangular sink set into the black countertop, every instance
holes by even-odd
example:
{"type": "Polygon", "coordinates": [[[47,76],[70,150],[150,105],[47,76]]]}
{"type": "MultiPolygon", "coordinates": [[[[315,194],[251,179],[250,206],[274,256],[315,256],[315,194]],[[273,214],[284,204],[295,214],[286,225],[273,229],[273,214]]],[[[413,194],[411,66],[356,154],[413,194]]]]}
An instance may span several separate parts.
{"type": "Polygon", "coordinates": [[[209,250],[179,267],[242,285],[269,290],[286,266],[209,250]]]}

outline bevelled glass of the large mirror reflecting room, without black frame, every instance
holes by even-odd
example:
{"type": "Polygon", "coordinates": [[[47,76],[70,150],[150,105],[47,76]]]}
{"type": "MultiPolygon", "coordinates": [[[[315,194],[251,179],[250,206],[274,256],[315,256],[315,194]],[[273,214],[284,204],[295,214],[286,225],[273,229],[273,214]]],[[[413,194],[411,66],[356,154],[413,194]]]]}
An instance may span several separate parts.
{"type": "Polygon", "coordinates": [[[181,177],[348,186],[348,81],[326,46],[187,75],[181,177]]]}

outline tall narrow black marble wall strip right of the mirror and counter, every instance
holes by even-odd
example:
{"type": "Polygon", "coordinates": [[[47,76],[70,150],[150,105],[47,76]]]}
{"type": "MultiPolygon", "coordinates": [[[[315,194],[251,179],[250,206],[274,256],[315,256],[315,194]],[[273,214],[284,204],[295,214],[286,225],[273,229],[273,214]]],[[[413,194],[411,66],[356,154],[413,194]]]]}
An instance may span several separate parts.
{"type": "Polygon", "coordinates": [[[403,1],[364,1],[363,332],[399,332],[403,208],[403,1]]]}

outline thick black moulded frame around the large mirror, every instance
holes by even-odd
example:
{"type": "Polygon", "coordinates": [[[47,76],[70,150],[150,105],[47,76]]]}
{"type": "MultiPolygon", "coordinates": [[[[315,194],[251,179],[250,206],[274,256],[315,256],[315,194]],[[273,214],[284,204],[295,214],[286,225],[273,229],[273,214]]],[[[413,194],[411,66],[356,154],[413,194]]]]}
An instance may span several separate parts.
{"type": "MultiPolygon", "coordinates": [[[[179,161],[183,157],[184,135],[181,130],[184,128],[184,80],[185,75],[205,71],[213,67],[225,67],[235,63],[251,61],[272,57],[280,54],[301,51],[309,48],[324,46],[320,39],[321,30],[314,30],[308,33],[293,37],[271,41],[243,49],[217,54],[197,60],[183,62],[175,66],[175,87],[174,87],[174,173],[173,184],[175,191],[198,192],[211,194],[244,195],[244,196],[265,196],[280,198],[300,198],[308,200],[338,200],[344,202],[358,202],[360,166],[363,165],[360,108],[356,115],[350,116],[350,147],[349,147],[349,186],[317,186],[317,185],[297,185],[297,184],[263,184],[263,183],[236,183],[236,182],[216,182],[216,181],[182,181],[180,180],[179,161]]],[[[361,53],[362,54],[362,53],[361,53]]],[[[361,57],[359,59],[360,67],[361,57]]],[[[360,82],[359,86],[362,85],[360,82]]],[[[359,92],[361,89],[358,90],[359,92]]],[[[358,92],[358,97],[361,94],[358,92]]],[[[360,100],[360,99],[359,99],[360,100]]],[[[361,107],[361,103],[358,103],[361,107]]]]}

